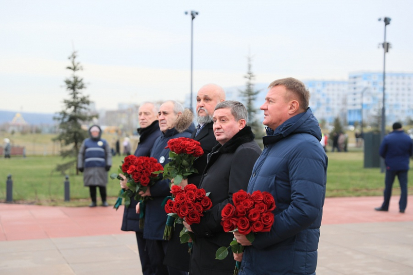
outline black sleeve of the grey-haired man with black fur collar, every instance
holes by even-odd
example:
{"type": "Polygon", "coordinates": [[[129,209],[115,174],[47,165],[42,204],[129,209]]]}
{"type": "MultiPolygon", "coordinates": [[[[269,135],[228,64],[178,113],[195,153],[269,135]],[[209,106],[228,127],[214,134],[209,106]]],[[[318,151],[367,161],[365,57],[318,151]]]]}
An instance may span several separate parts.
{"type": "Polygon", "coordinates": [[[211,236],[216,232],[223,232],[221,226],[221,211],[227,203],[232,203],[232,195],[238,191],[247,190],[248,182],[259,153],[253,148],[241,148],[234,153],[229,167],[229,181],[217,182],[217,184],[228,184],[228,198],[214,205],[204,213],[199,224],[192,224],[191,229],[197,236],[211,236]]]}

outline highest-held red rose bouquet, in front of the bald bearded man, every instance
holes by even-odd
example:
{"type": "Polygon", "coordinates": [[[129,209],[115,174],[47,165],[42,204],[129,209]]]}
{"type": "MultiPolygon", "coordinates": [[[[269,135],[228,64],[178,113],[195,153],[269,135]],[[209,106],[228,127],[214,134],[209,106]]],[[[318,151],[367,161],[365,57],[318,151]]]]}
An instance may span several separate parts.
{"type": "Polygon", "coordinates": [[[201,144],[186,137],[173,138],[168,141],[169,159],[165,167],[164,177],[173,178],[173,183],[178,185],[183,178],[188,178],[198,171],[193,168],[193,162],[204,154],[201,144]]]}

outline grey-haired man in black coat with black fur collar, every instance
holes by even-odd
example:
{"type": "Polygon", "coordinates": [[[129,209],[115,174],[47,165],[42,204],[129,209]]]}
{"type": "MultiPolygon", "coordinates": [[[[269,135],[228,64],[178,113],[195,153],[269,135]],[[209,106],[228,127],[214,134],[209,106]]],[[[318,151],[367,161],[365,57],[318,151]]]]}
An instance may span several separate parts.
{"type": "Polygon", "coordinates": [[[184,226],[192,231],[190,262],[191,275],[232,275],[235,260],[229,255],[224,260],[215,259],[221,246],[228,246],[231,233],[221,226],[221,211],[232,202],[232,194],[246,190],[248,179],[261,149],[254,141],[255,135],[246,126],[248,113],[238,101],[224,101],[215,107],[213,129],[217,146],[208,154],[208,163],[202,174],[199,188],[204,188],[212,201],[212,208],[204,213],[199,224],[184,226]]]}

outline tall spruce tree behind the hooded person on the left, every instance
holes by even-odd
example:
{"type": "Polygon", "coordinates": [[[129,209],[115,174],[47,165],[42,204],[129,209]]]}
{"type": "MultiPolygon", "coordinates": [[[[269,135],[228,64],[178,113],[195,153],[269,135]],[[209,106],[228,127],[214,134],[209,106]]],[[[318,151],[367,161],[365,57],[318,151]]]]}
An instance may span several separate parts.
{"type": "MultiPolygon", "coordinates": [[[[70,65],[66,68],[71,71],[71,76],[65,80],[66,90],[69,98],[64,99],[64,110],[57,113],[54,120],[59,121],[59,134],[54,141],[59,141],[61,145],[60,155],[68,162],[57,164],[56,170],[65,174],[66,170],[77,163],[77,155],[84,139],[88,137],[86,130],[82,129],[82,123],[89,122],[97,115],[89,114],[89,96],[84,96],[82,90],[86,89],[83,78],[76,73],[83,70],[79,62],[76,61],[76,51],[69,56],[70,65]]],[[[76,175],[79,174],[76,165],[76,175]]]]}

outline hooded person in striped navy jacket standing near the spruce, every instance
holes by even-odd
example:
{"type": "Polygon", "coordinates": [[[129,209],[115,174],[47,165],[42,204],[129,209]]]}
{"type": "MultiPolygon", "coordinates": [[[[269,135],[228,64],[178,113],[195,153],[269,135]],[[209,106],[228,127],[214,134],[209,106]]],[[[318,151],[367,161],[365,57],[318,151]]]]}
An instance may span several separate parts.
{"type": "Polygon", "coordinates": [[[107,171],[112,166],[112,153],[110,146],[101,138],[102,130],[99,126],[93,125],[89,128],[89,138],[85,139],[80,146],[77,158],[77,167],[83,173],[85,186],[89,187],[90,198],[92,203],[90,207],[96,204],[96,187],[102,197],[102,205],[108,206],[106,202],[106,184],[107,171]]]}

